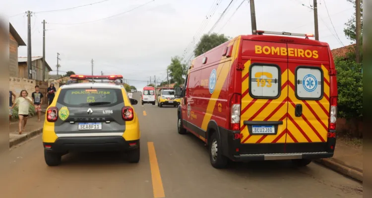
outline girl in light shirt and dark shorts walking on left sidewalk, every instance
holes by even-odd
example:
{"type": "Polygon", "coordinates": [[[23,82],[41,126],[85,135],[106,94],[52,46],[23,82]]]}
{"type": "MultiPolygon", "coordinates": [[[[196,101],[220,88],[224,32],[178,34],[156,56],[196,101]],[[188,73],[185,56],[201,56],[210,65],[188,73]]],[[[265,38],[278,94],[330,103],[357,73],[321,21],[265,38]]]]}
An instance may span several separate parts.
{"type": "Polygon", "coordinates": [[[18,105],[19,134],[22,134],[22,131],[25,130],[30,104],[33,104],[32,99],[28,97],[26,90],[22,90],[19,97],[15,99],[15,102],[11,106],[11,108],[14,108],[15,105],[18,105]]]}

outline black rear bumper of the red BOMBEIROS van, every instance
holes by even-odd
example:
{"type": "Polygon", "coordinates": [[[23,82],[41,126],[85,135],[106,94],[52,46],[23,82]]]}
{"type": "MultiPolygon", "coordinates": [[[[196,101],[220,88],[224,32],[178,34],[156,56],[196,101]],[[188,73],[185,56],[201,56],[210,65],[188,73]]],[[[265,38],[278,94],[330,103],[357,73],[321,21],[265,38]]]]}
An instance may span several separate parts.
{"type": "Polygon", "coordinates": [[[257,143],[241,144],[235,139],[240,131],[219,128],[223,154],[233,161],[321,159],[333,156],[335,138],[320,143],[257,143]]]}

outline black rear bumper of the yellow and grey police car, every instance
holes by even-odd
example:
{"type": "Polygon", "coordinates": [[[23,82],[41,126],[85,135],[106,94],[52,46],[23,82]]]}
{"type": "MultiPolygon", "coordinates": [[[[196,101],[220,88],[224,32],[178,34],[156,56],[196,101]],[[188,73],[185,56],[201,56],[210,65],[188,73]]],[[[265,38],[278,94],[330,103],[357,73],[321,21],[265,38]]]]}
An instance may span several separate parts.
{"type": "Polygon", "coordinates": [[[44,149],[52,152],[127,151],[138,148],[139,140],[126,141],[122,136],[63,137],[54,143],[43,143],[44,149]]]}

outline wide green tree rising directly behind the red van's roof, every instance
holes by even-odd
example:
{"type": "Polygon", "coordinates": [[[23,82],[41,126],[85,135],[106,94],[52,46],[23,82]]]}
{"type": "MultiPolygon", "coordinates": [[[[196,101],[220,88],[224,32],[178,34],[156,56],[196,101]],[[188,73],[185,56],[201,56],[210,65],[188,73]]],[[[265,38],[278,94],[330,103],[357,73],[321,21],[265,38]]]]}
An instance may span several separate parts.
{"type": "Polygon", "coordinates": [[[226,37],[224,34],[204,34],[199,43],[196,45],[196,49],[194,50],[194,55],[199,56],[206,51],[213,49],[225,42],[229,41],[229,38],[226,37]]]}

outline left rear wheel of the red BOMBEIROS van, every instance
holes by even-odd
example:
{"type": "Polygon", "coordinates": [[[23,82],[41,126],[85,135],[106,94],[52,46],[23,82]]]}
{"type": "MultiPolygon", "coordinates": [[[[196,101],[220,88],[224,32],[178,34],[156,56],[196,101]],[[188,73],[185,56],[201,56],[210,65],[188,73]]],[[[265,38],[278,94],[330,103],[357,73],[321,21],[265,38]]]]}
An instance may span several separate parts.
{"type": "Polygon", "coordinates": [[[221,141],[217,136],[217,133],[213,133],[209,142],[209,159],[210,163],[215,168],[225,168],[228,163],[228,158],[222,155],[222,151],[218,151],[221,141]]]}

